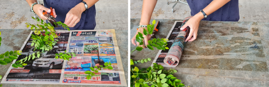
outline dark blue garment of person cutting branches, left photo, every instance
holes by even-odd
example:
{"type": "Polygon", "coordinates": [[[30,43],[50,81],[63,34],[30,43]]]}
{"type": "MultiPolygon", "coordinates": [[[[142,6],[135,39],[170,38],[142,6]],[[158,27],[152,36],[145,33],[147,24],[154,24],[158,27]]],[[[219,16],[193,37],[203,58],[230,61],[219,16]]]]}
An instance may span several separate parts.
{"type": "MultiPolygon", "coordinates": [[[[55,9],[55,13],[57,15],[56,21],[61,21],[62,23],[65,22],[66,14],[79,4],[83,0],[44,0],[44,6],[47,8],[52,7],[55,9]]],[[[88,10],[85,13],[81,14],[80,21],[76,23],[74,27],[70,27],[70,30],[77,29],[94,29],[96,26],[95,22],[95,5],[88,7],[88,10]]],[[[48,23],[48,20],[47,20],[48,23]]],[[[64,29],[63,27],[57,27],[55,29],[64,29]]],[[[66,29],[67,30],[67,29],[66,29]]]]}

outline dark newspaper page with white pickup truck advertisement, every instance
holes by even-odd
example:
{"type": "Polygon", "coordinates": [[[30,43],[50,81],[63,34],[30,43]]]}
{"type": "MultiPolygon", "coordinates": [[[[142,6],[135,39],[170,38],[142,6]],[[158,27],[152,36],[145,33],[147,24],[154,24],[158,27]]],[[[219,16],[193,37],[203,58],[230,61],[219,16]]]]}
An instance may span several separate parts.
{"type": "MultiPolygon", "coordinates": [[[[44,33],[41,32],[41,34],[44,33]]],[[[59,40],[59,43],[56,43],[53,49],[45,53],[40,51],[39,58],[30,58],[30,60],[24,62],[27,65],[22,68],[12,67],[4,81],[59,83],[64,61],[62,59],[56,59],[55,54],[66,49],[70,32],[55,33],[59,38],[55,38],[54,40],[59,40]]],[[[34,32],[32,34],[35,35],[34,32]]],[[[27,40],[27,43],[22,48],[22,55],[19,55],[17,60],[21,60],[39,51],[37,49],[34,50],[34,46],[31,46],[30,41],[33,41],[33,39],[29,38],[27,40]]]]}

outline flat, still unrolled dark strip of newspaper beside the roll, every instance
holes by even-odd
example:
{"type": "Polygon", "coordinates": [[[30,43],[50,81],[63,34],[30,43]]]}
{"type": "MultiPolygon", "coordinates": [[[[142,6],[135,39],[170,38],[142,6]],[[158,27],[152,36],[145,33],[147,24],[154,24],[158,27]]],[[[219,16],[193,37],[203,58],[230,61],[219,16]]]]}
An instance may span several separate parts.
{"type": "MultiPolygon", "coordinates": [[[[180,27],[181,27],[181,25],[182,25],[182,22],[183,22],[183,21],[175,21],[173,27],[171,28],[169,34],[168,34],[167,37],[166,37],[166,39],[168,39],[168,42],[167,42],[168,45],[166,45],[166,46],[167,46],[169,49],[170,49],[170,47],[172,46],[172,44],[173,44],[175,38],[178,36],[178,34],[179,34],[179,32],[180,32],[180,27]]],[[[166,50],[160,50],[160,51],[158,52],[157,56],[155,57],[155,59],[153,60],[152,63],[160,64],[160,65],[162,65],[163,67],[171,67],[171,66],[166,65],[166,64],[163,62],[163,60],[164,60],[164,58],[165,58],[165,56],[166,56],[166,54],[167,54],[168,51],[169,51],[168,49],[166,49],[166,50]]],[[[178,62],[176,61],[175,63],[173,63],[173,64],[171,64],[171,65],[177,65],[177,63],[178,63],[178,62]]],[[[151,66],[153,66],[153,64],[152,64],[151,66]]]]}

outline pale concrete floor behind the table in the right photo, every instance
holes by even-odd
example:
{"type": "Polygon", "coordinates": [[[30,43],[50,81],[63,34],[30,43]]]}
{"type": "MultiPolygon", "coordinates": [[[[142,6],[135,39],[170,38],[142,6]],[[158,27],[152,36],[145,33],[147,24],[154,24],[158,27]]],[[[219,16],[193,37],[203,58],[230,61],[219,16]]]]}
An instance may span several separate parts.
{"type": "MultiPolygon", "coordinates": [[[[190,14],[189,5],[180,3],[174,7],[175,12],[172,13],[172,7],[175,4],[167,1],[174,0],[158,0],[152,18],[155,19],[184,19],[190,14]]],[[[187,2],[186,0],[181,0],[187,2]]],[[[239,0],[239,21],[252,21],[252,22],[269,22],[269,7],[268,0],[239,0]]],[[[130,18],[141,18],[143,0],[130,1],[130,18]]]]}

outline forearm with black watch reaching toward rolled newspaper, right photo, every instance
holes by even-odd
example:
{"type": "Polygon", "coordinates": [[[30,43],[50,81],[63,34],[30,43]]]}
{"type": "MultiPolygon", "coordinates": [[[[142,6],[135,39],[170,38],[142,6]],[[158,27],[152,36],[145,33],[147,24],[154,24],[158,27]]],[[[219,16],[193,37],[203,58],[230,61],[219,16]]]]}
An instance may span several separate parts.
{"type": "MultiPolygon", "coordinates": [[[[207,15],[210,15],[211,13],[215,12],[216,10],[221,8],[223,5],[225,5],[229,1],[231,0],[213,0],[210,4],[207,5],[207,7],[203,9],[203,11],[207,15]]],[[[204,15],[202,12],[197,13],[195,16],[198,16],[199,19],[204,18],[204,15]]]]}

